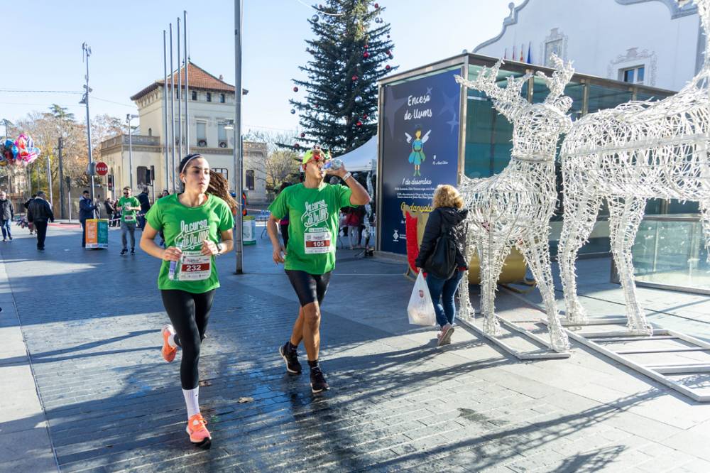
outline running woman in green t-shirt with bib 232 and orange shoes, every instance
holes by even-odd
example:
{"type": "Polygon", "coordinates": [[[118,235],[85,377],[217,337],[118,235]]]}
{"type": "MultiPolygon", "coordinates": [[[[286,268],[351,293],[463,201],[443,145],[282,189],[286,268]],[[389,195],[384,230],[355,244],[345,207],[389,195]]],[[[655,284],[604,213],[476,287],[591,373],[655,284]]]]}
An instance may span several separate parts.
{"type": "MultiPolygon", "coordinates": [[[[161,198],[146,215],[141,249],[162,259],[158,288],[172,325],[165,325],[163,358],[173,361],[182,348],[180,383],[187,406],[190,442],[209,448],[209,435],[198,403],[197,361],[207,328],[214,290],[219,287],[214,257],[231,251],[234,217],[226,202],[229,194],[207,193],[209,163],[199,154],[180,161],[180,180],[185,191],[161,198]],[[155,244],[155,235],[165,234],[165,249],[155,244]]],[[[231,202],[230,202],[231,203],[231,202]]]]}

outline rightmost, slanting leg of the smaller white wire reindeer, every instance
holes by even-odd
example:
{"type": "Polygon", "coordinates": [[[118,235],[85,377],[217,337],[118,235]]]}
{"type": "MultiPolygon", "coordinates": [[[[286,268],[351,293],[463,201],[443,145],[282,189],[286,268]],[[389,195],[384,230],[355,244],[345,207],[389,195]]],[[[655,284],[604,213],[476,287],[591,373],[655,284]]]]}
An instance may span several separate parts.
{"type": "Polygon", "coordinates": [[[542,302],[545,303],[547,328],[550,331],[550,347],[555,352],[567,352],[569,351],[569,339],[559,322],[552,270],[550,269],[550,231],[547,228],[538,229],[527,239],[519,241],[516,246],[525,257],[537,283],[537,288],[540,289],[542,302]]]}

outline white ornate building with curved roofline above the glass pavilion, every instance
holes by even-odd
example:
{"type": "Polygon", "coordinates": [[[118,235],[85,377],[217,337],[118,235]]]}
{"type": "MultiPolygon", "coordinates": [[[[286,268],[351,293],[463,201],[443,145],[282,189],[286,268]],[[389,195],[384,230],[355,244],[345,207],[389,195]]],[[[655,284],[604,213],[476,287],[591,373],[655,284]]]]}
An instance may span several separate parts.
{"type": "Polygon", "coordinates": [[[705,36],[687,0],[523,0],[473,52],[677,91],[699,71],[705,36]],[[530,60],[528,60],[528,57],[530,60]]]}

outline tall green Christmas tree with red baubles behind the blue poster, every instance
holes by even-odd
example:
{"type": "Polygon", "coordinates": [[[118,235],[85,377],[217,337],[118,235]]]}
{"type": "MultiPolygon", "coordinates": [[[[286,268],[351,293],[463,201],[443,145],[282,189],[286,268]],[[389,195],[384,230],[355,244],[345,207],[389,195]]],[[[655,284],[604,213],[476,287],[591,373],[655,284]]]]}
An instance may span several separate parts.
{"type": "Polygon", "coordinates": [[[371,0],[328,0],[313,6],[315,39],[307,40],[312,59],[300,70],[308,80],[294,80],[291,113],[299,112],[302,132],[290,148],[320,144],[334,155],[361,146],[377,132],[377,81],[397,67],[390,25],[383,7],[371,0]]]}

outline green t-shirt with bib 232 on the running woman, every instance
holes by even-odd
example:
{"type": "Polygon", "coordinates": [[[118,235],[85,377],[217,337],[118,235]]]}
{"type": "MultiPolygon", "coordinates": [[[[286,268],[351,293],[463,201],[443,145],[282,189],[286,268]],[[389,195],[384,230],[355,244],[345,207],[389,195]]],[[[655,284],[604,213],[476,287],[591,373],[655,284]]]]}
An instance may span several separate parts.
{"type": "Polygon", "coordinates": [[[224,200],[207,195],[200,207],[185,207],[178,194],[161,198],[148,210],[146,220],[153,229],[163,230],[165,246],[182,249],[182,259],[170,279],[170,261],[163,261],[158,273],[159,289],[180,289],[188,293],[206,293],[219,288],[214,256],[201,256],[202,240],[219,242],[219,235],[234,227],[234,215],[224,200]]]}

